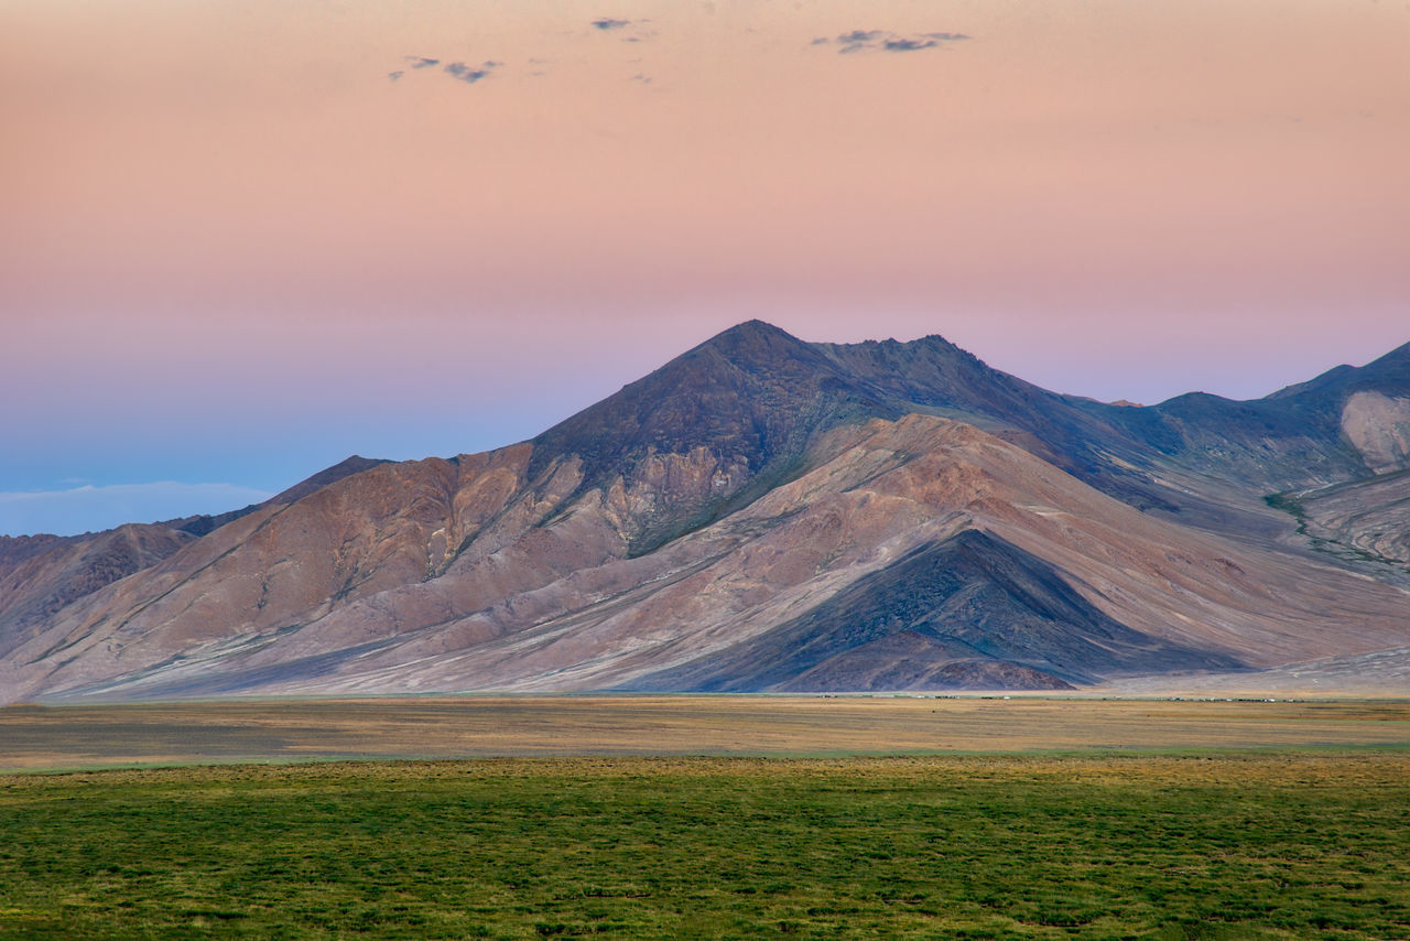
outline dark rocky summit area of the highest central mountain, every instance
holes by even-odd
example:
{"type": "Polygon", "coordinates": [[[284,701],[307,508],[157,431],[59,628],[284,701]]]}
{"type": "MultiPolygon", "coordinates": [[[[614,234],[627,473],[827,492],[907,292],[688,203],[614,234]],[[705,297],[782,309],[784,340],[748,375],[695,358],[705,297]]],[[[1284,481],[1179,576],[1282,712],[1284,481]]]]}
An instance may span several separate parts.
{"type": "Polygon", "coordinates": [[[805,343],[761,320],[706,340],[536,437],[530,475],[577,454],[584,487],[592,487],[630,477],[650,453],[705,447],[722,467],[746,473],[691,518],[699,523],[790,480],[818,435],[915,412],[973,423],[1131,502],[1176,509],[1170,494],[1108,459],[1142,450],[1117,426],[943,337],[805,343]]]}

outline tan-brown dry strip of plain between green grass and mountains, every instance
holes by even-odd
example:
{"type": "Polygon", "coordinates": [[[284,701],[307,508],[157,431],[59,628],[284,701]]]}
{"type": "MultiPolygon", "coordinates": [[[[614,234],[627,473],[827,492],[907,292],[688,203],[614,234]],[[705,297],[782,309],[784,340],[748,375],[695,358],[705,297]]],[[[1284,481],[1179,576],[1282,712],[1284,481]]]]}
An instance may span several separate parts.
{"type": "Polygon", "coordinates": [[[1410,701],[467,696],[0,708],[0,772],[347,758],[1269,746],[1410,748],[1410,701]]]}

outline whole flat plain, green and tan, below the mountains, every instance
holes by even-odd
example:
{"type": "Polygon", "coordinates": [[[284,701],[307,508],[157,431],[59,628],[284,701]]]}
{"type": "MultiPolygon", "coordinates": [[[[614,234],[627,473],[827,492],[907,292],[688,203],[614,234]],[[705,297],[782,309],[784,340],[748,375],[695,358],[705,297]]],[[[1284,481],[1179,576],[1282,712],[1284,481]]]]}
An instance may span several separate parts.
{"type": "Polygon", "coordinates": [[[1410,938],[1407,746],[1397,701],[10,707],[0,937],[1410,938]]]}

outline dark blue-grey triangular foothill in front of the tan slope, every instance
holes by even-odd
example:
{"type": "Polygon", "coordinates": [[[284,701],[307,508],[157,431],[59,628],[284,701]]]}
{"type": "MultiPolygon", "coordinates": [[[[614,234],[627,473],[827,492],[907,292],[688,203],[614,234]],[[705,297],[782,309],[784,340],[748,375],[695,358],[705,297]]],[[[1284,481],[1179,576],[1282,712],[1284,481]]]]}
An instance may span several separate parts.
{"type": "Polygon", "coordinates": [[[1221,669],[1232,656],[1132,631],[1043,560],[983,529],[922,543],[759,638],[649,674],[636,688],[1072,688],[1104,672],[1221,669]],[[1021,674],[1018,672],[1022,672],[1021,674]]]}

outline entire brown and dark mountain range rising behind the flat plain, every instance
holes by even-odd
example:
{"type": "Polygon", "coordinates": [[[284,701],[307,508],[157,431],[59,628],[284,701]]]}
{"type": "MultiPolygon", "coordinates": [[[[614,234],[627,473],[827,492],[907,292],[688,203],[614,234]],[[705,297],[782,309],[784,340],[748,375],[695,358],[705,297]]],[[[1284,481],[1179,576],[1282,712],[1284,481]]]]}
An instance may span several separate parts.
{"type": "Polygon", "coordinates": [[[0,577],[54,560],[44,604],[3,595],[30,614],[0,698],[1066,688],[1371,656],[1410,646],[1380,532],[1407,403],[1410,347],[1139,408],[940,337],[753,320],[529,442],[350,459],[162,526],[106,581],[0,545],[0,577]]]}

